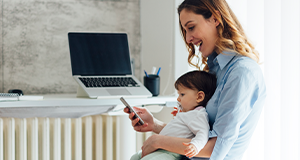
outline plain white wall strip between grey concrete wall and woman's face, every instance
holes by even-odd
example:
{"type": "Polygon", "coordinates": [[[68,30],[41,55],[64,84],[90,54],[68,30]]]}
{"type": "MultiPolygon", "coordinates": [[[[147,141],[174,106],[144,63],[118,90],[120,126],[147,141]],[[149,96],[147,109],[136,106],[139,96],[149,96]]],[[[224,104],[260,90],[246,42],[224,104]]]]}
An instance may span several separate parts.
{"type": "Polygon", "coordinates": [[[188,70],[188,53],[180,35],[177,15],[181,1],[140,1],[141,70],[149,73],[153,66],[161,67],[160,95],[174,94],[176,78],[188,70]]]}

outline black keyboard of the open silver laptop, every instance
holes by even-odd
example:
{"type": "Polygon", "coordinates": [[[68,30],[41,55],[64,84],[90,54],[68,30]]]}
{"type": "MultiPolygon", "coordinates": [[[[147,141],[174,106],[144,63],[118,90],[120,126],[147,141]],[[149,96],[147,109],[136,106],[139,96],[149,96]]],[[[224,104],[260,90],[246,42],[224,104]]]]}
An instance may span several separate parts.
{"type": "Polygon", "coordinates": [[[139,87],[131,77],[79,78],[85,87],[139,87]]]}

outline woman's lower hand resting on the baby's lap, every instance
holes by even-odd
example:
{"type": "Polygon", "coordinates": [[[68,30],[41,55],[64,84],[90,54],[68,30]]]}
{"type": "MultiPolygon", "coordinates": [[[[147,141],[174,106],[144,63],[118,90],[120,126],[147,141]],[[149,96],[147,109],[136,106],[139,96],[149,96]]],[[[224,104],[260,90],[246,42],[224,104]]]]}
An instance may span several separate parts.
{"type": "Polygon", "coordinates": [[[162,136],[159,134],[150,136],[143,144],[142,157],[159,149],[159,142],[161,142],[161,138],[162,136]]]}

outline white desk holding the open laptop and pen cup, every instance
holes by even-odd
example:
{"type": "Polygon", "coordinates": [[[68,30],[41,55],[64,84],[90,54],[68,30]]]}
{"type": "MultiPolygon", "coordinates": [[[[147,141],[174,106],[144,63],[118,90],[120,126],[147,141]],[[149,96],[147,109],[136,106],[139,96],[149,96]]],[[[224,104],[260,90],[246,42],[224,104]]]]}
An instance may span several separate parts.
{"type": "MultiPolygon", "coordinates": [[[[164,105],[173,107],[176,97],[127,98],[131,106],[164,105]]],[[[110,112],[124,105],[119,99],[77,98],[75,94],[44,95],[43,100],[0,102],[0,117],[79,118],[110,112]]],[[[119,109],[120,110],[120,109],[119,109]]]]}

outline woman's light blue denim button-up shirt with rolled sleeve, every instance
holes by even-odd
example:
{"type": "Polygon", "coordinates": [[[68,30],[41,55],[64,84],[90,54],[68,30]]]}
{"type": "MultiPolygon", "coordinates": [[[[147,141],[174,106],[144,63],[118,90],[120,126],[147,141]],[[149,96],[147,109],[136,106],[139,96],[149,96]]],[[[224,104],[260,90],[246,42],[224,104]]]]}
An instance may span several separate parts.
{"type": "Polygon", "coordinates": [[[259,65],[234,52],[212,53],[209,72],[217,76],[217,89],[206,110],[217,137],[211,160],[240,160],[260,118],[266,86],[259,65]]]}

